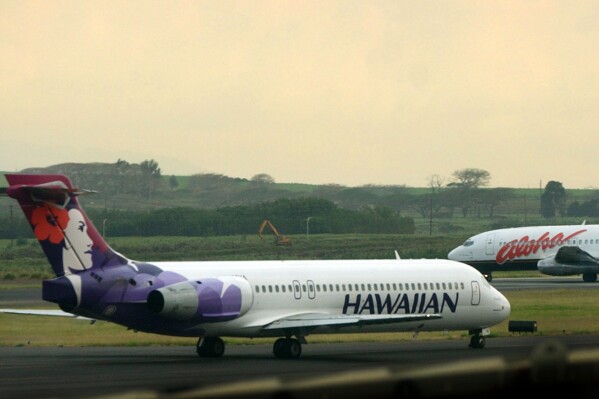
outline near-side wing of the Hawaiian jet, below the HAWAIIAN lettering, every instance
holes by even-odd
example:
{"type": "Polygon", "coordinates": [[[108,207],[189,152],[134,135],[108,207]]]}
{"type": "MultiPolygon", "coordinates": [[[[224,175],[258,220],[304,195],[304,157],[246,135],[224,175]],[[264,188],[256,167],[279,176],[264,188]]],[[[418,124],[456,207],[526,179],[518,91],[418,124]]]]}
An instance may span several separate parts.
{"type": "Polygon", "coordinates": [[[392,315],[330,315],[326,313],[308,313],[287,316],[275,320],[264,326],[264,329],[349,327],[372,324],[405,323],[409,321],[435,320],[440,318],[441,315],[436,313],[392,315]]]}

